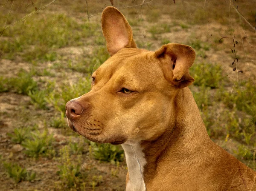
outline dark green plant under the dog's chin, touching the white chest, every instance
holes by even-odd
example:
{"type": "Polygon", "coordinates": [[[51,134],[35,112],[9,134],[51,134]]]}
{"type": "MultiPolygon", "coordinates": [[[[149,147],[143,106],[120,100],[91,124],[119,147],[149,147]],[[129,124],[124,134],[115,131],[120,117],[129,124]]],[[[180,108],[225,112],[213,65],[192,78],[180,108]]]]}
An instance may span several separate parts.
{"type": "Polygon", "coordinates": [[[124,151],[117,145],[111,145],[109,143],[99,144],[90,142],[93,147],[93,156],[96,160],[102,160],[107,162],[117,162],[124,159],[124,151]]]}

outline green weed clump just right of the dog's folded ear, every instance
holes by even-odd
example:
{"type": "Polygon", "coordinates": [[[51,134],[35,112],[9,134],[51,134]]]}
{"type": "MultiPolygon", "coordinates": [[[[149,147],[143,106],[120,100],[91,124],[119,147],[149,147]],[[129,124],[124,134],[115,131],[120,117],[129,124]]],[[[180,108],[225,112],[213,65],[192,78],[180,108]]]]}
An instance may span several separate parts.
{"type": "Polygon", "coordinates": [[[221,85],[222,69],[219,64],[196,63],[190,68],[192,76],[195,78],[195,86],[206,86],[218,88],[221,85]]]}

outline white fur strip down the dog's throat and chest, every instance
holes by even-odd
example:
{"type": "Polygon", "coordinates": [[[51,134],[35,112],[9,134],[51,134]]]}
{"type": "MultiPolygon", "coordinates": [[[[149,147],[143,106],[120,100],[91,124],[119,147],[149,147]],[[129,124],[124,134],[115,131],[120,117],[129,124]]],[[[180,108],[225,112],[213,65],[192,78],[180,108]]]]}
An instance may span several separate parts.
{"type": "Polygon", "coordinates": [[[143,171],[146,164],[145,155],[140,147],[140,143],[126,141],[122,144],[125,151],[126,163],[129,172],[129,181],[126,191],[145,191],[146,186],[143,180],[143,171]]]}

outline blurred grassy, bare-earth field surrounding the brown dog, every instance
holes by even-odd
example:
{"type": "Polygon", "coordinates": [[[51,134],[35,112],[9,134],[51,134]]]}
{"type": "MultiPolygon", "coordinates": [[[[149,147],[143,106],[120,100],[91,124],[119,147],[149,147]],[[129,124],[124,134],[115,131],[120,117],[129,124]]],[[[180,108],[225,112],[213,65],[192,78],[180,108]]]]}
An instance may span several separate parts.
{"type": "MultiPolygon", "coordinates": [[[[255,2],[113,3],[140,48],[154,51],[172,42],[196,50],[190,89],[208,134],[256,170],[255,2]]],[[[64,117],[65,103],[90,90],[91,73],[109,57],[100,13],[110,5],[0,3],[0,190],[124,190],[122,148],[89,142],[64,117]]]]}

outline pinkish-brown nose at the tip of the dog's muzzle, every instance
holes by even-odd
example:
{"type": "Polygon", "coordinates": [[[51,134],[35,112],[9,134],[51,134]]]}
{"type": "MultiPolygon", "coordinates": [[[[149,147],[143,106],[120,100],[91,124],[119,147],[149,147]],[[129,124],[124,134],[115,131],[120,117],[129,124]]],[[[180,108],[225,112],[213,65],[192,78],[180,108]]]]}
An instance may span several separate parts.
{"type": "Polygon", "coordinates": [[[75,100],[70,100],[66,104],[66,116],[69,119],[74,119],[75,117],[81,115],[83,113],[84,109],[82,105],[80,105],[75,100]]]}

